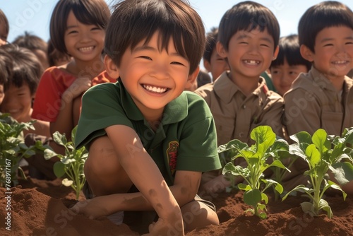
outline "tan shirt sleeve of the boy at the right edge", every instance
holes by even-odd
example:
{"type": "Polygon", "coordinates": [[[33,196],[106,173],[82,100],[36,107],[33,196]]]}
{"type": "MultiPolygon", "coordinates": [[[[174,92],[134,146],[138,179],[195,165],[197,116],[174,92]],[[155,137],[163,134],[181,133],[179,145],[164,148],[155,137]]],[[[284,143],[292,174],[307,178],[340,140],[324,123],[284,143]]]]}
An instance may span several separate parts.
{"type": "Polygon", "coordinates": [[[307,131],[312,135],[321,127],[321,107],[306,90],[292,90],[285,94],[284,123],[289,135],[299,131],[307,131]]]}

